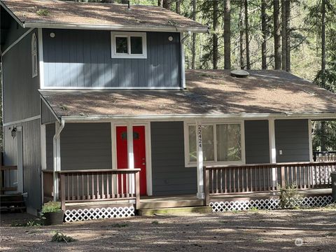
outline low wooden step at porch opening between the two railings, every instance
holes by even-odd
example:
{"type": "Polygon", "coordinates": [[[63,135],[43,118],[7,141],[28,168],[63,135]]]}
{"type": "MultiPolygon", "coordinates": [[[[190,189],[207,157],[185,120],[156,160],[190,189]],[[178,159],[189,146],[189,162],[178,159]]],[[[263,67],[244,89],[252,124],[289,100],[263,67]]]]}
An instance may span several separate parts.
{"type": "Polygon", "coordinates": [[[212,212],[211,207],[173,207],[161,209],[139,209],[139,216],[153,216],[160,214],[209,214],[212,212]]]}

